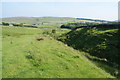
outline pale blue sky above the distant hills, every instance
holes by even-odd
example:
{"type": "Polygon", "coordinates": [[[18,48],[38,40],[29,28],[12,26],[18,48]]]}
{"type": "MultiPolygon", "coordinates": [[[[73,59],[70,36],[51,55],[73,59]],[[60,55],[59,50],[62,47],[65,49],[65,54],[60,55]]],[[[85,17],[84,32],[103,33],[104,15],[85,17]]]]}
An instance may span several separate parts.
{"type": "Polygon", "coordinates": [[[114,21],[118,19],[118,1],[2,0],[1,18],[45,16],[91,18],[114,21]]]}

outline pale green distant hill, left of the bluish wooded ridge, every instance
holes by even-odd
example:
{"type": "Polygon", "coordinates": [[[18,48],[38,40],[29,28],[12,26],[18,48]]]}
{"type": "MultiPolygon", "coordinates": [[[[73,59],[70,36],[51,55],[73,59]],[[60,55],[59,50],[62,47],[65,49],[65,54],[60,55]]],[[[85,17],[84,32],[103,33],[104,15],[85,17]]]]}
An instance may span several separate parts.
{"type": "Polygon", "coordinates": [[[26,24],[41,24],[41,23],[65,23],[76,21],[76,18],[70,17],[11,17],[3,18],[3,22],[10,23],[26,23],[26,24]]]}

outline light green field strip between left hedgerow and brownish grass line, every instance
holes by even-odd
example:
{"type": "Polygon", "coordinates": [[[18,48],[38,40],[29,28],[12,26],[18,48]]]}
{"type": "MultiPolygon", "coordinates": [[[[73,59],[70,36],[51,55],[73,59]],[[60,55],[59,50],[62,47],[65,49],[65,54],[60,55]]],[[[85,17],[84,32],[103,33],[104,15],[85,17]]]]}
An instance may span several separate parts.
{"type": "MultiPolygon", "coordinates": [[[[44,30],[44,29],[43,29],[44,30]]],[[[37,28],[25,28],[25,27],[3,27],[3,36],[20,36],[20,35],[33,35],[33,34],[39,34],[43,32],[41,29],[37,28]]]]}

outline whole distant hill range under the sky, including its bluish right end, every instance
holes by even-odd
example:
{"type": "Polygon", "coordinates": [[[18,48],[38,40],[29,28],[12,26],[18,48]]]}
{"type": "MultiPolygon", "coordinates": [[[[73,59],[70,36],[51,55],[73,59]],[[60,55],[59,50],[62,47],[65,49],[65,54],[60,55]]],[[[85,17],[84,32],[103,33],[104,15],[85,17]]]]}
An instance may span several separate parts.
{"type": "Polygon", "coordinates": [[[3,22],[25,23],[25,24],[63,24],[68,22],[106,22],[104,20],[93,20],[72,17],[10,17],[2,18],[3,22]]]}

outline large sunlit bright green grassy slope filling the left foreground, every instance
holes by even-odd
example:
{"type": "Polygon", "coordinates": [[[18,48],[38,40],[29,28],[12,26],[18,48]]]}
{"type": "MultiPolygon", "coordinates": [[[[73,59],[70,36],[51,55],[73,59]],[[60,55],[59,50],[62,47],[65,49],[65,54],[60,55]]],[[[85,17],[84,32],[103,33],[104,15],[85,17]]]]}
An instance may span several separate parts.
{"type": "Polygon", "coordinates": [[[37,33],[42,33],[42,30],[3,27],[4,78],[112,77],[84,57],[83,52],[49,36],[37,41],[37,33]]]}

